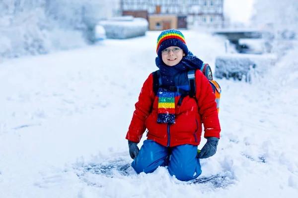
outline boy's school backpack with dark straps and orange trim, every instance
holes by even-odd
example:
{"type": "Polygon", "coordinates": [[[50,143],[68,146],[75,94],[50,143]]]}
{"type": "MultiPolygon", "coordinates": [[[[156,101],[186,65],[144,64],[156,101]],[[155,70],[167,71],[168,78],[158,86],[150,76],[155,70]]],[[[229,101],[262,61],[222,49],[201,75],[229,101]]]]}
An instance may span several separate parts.
{"type": "MultiPolygon", "coordinates": [[[[212,76],[212,71],[209,66],[209,64],[204,64],[202,65],[200,69],[203,74],[206,76],[206,78],[209,80],[211,87],[213,89],[213,93],[215,94],[215,101],[217,103],[217,110],[218,112],[220,111],[220,98],[221,98],[221,92],[222,89],[220,85],[213,80],[212,76]]],[[[196,99],[196,83],[195,83],[195,72],[196,70],[189,70],[187,72],[187,78],[188,78],[188,83],[189,83],[189,91],[183,90],[181,88],[177,88],[176,86],[170,86],[170,85],[162,85],[161,78],[160,78],[160,71],[154,71],[152,72],[153,75],[153,92],[155,96],[157,95],[158,89],[159,88],[165,88],[168,89],[172,92],[178,92],[181,94],[180,99],[178,100],[177,105],[181,106],[182,100],[186,97],[189,96],[190,98],[193,98],[197,101],[196,99]]]]}

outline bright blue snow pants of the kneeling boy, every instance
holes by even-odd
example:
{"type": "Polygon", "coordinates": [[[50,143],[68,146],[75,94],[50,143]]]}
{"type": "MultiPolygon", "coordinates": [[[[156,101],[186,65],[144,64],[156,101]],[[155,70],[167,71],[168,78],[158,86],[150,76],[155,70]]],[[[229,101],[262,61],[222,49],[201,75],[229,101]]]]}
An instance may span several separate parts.
{"type": "Polygon", "coordinates": [[[132,167],[139,174],[152,173],[158,166],[168,166],[170,175],[175,175],[180,181],[189,181],[202,173],[197,151],[198,147],[193,145],[164,147],[152,140],[145,140],[132,167]]]}

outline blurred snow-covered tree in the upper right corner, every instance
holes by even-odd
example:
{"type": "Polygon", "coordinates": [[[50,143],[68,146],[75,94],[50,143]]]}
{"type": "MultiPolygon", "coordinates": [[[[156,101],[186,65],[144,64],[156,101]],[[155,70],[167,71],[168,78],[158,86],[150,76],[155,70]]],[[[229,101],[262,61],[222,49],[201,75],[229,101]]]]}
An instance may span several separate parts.
{"type": "Polygon", "coordinates": [[[298,38],[298,0],[255,0],[251,21],[264,30],[266,50],[282,56],[298,38]]]}

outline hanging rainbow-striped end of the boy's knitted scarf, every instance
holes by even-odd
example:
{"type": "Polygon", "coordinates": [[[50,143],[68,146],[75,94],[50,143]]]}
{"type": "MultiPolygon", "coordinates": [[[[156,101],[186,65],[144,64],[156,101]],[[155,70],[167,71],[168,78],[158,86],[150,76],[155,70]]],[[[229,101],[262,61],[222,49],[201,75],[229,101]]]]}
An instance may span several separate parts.
{"type": "Polygon", "coordinates": [[[175,93],[164,88],[159,88],[157,96],[157,123],[175,124],[175,93]]]}

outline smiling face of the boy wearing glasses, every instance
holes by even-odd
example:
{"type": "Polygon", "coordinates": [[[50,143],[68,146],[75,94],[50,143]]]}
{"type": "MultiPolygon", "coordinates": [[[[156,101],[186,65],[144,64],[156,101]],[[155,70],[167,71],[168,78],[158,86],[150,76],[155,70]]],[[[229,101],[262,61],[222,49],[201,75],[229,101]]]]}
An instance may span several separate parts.
{"type": "Polygon", "coordinates": [[[185,56],[183,50],[176,46],[168,47],[161,52],[162,61],[168,66],[174,66],[185,56]]]}

